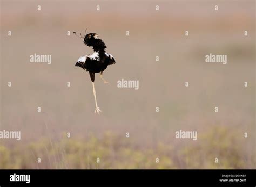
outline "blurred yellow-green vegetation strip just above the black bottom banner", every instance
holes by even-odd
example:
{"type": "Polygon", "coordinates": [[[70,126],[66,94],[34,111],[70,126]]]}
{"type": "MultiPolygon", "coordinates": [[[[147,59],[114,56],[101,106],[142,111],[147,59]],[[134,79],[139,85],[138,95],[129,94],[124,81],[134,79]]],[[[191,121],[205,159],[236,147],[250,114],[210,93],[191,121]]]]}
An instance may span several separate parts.
{"type": "MultiPolygon", "coordinates": [[[[200,133],[198,133],[200,134],[200,133]]],[[[255,153],[240,131],[214,127],[185,146],[159,142],[153,148],[133,145],[111,132],[98,139],[41,139],[22,147],[0,145],[1,169],[241,169],[255,168],[255,153]],[[37,158],[41,163],[37,163],[37,158]],[[97,157],[100,163],[97,163],[97,157]],[[159,163],[156,163],[156,158],[159,163]],[[214,163],[218,157],[218,163],[214,163]]]]}

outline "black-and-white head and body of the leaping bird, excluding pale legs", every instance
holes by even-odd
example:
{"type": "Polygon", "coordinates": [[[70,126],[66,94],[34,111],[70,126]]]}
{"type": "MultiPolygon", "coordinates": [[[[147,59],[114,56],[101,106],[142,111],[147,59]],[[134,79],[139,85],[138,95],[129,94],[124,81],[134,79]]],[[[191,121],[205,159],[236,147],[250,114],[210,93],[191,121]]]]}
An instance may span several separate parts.
{"type": "Polygon", "coordinates": [[[90,33],[87,34],[84,38],[84,44],[89,47],[93,47],[94,53],[81,56],[76,63],[76,66],[79,66],[84,70],[86,69],[86,71],[89,71],[93,82],[95,73],[103,72],[107,68],[107,66],[116,63],[113,56],[106,53],[105,43],[101,39],[95,37],[95,35],[97,36],[97,34],[90,33]]]}

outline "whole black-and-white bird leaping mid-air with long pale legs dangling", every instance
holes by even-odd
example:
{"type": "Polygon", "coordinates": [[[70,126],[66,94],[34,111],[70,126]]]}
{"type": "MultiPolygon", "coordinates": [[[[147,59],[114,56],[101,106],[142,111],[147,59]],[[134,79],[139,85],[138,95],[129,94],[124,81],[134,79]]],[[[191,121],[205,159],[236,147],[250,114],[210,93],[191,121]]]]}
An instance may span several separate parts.
{"type": "Polygon", "coordinates": [[[86,71],[89,71],[91,81],[92,81],[92,91],[93,96],[95,98],[95,113],[100,114],[102,112],[97,104],[96,99],[96,90],[95,90],[95,74],[100,73],[100,78],[103,80],[105,84],[109,83],[103,78],[103,71],[107,68],[107,66],[116,63],[113,55],[110,53],[106,53],[106,45],[102,39],[99,39],[99,34],[89,33],[87,34],[87,29],[85,30],[86,35],[82,37],[73,32],[77,37],[84,39],[84,44],[88,47],[92,47],[93,53],[89,55],[80,56],[77,60],[75,66],[83,68],[86,71]]]}

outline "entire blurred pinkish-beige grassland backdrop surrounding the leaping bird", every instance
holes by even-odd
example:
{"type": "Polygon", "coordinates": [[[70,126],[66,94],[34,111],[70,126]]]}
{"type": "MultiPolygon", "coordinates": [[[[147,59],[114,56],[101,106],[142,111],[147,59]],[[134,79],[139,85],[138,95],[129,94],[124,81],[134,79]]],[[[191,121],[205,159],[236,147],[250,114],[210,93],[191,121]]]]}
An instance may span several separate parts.
{"type": "Polygon", "coordinates": [[[256,168],[255,1],[0,2],[0,130],[21,131],[0,139],[1,169],[256,168]],[[111,84],[96,75],[100,116],[75,67],[92,53],[72,34],[86,28],[116,59],[104,71],[111,84]],[[52,63],[31,63],[35,53],[52,63]],[[206,63],[210,53],[227,64],[206,63]],[[122,78],[139,90],[117,88],[122,78]],[[179,130],[197,140],[176,139],[179,130]]]}

